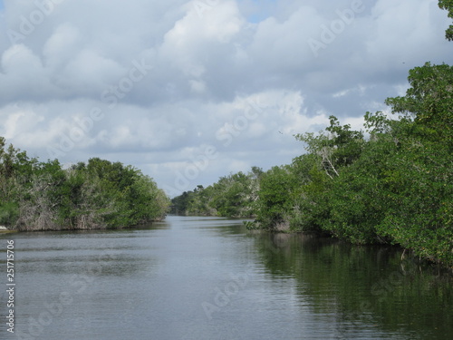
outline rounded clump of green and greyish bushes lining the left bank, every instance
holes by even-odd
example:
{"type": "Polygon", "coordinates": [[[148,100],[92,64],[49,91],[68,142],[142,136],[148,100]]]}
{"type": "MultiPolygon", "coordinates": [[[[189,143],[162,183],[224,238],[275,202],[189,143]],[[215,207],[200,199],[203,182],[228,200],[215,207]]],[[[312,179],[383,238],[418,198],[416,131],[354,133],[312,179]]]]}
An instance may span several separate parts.
{"type": "Polygon", "coordinates": [[[120,228],[165,216],[169,199],[140,170],[94,158],[63,169],[0,137],[0,224],[18,230],[120,228]]]}

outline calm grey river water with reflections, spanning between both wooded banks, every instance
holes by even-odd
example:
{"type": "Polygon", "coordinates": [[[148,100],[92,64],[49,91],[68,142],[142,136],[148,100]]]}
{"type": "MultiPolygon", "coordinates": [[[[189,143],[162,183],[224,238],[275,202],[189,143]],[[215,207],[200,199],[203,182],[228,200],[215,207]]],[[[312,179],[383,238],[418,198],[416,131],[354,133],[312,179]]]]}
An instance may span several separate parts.
{"type": "Polygon", "coordinates": [[[169,216],[149,228],[14,239],[15,333],[1,339],[453,339],[453,280],[396,248],[247,233],[169,216]]]}

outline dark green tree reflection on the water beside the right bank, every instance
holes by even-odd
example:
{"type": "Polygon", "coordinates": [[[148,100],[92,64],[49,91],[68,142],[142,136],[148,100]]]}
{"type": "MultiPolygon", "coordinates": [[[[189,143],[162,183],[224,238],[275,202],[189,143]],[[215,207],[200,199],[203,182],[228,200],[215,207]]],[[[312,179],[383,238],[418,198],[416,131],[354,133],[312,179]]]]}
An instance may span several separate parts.
{"type": "Polygon", "coordinates": [[[299,296],[311,299],[315,315],[334,315],[341,333],[372,325],[423,334],[427,324],[439,338],[453,332],[453,277],[408,255],[401,259],[400,248],[302,234],[250,237],[269,273],[296,278],[299,296]]]}

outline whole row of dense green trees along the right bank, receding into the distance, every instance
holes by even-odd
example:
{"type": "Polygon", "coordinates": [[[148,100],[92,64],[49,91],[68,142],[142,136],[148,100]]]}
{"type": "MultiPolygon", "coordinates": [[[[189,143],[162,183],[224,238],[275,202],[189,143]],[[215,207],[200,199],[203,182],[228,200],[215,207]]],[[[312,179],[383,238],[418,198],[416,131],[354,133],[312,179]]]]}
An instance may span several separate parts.
{"type": "MultiPolygon", "coordinates": [[[[453,14],[451,1],[439,6],[453,14]]],[[[392,116],[367,112],[364,131],[331,116],[325,131],[295,136],[307,152],[292,164],[198,187],[173,199],[174,209],[399,244],[453,266],[453,67],[425,63],[410,70],[409,83],[405,96],[386,100],[392,116]]]]}

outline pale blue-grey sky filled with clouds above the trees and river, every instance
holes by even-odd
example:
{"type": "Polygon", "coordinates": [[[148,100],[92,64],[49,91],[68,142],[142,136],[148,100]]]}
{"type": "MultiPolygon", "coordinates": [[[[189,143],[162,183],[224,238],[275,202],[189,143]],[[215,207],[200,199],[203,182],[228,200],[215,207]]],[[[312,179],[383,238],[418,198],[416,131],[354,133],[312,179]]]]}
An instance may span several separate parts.
{"type": "Polygon", "coordinates": [[[304,153],[294,134],[453,63],[433,0],[0,1],[0,136],[140,169],[170,197],[304,153]]]}

